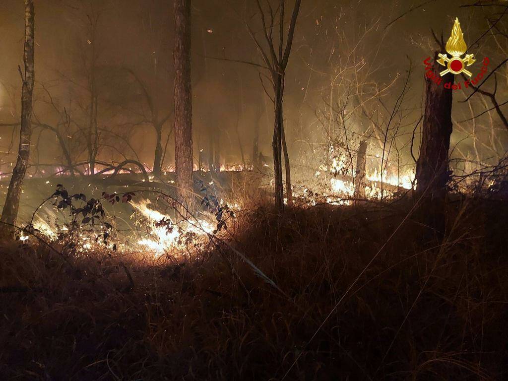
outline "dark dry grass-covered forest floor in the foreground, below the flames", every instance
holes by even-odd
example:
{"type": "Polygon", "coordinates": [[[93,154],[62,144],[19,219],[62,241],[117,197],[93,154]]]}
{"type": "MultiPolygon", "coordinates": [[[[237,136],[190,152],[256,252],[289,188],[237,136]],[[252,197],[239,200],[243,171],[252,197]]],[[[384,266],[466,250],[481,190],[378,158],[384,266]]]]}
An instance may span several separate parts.
{"type": "Polygon", "coordinates": [[[506,379],[508,205],[412,206],[261,203],[157,260],[4,243],[0,379],[506,379]]]}

